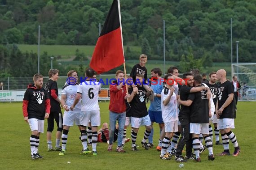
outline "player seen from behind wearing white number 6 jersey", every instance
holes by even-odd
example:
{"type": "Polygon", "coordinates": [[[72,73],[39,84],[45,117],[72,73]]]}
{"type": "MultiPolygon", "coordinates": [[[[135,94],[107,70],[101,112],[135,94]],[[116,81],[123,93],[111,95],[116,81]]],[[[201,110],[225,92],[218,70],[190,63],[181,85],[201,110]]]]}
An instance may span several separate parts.
{"type": "Polygon", "coordinates": [[[75,101],[71,106],[71,110],[79,102],[79,99],[82,98],[82,108],[80,113],[80,127],[81,127],[81,141],[84,149],[81,154],[92,153],[87,147],[87,132],[86,127],[88,126],[89,120],[91,120],[92,126],[92,148],[93,155],[97,155],[96,145],[97,145],[97,128],[101,125],[101,116],[100,116],[100,107],[98,104],[98,96],[101,92],[101,85],[95,79],[93,75],[95,74],[92,68],[86,69],[86,81],[80,82],[75,101]]]}

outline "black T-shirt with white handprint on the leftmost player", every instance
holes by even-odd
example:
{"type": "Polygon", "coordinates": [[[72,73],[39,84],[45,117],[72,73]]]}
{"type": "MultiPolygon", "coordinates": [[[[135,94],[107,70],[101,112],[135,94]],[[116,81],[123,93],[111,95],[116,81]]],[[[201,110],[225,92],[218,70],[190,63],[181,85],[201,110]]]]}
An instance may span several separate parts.
{"type": "Polygon", "coordinates": [[[27,101],[27,117],[44,120],[46,110],[46,100],[49,100],[44,88],[36,88],[29,85],[24,94],[24,101],[27,101]]]}

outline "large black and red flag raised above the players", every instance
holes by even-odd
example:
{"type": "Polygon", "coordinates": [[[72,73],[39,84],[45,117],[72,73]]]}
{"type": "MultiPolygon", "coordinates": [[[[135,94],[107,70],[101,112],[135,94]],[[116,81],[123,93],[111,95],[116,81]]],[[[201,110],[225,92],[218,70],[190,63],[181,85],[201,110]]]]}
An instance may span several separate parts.
{"type": "Polygon", "coordinates": [[[97,40],[90,67],[98,74],[124,63],[124,48],[119,0],[114,0],[97,40]]]}

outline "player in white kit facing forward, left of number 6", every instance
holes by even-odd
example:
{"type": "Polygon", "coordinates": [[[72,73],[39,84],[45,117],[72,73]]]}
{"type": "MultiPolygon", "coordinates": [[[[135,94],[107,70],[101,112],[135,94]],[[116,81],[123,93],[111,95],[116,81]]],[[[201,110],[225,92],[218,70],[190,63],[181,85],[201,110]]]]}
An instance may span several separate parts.
{"type": "Polygon", "coordinates": [[[62,99],[61,103],[63,108],[65,109],[63,115],[63,131],[62,131],[62,150],[59,155],[64,155],[66,153],[66,142],[67,142],[67,134],[69,132],[69,128],[73,126],[74,121],[75,124],[78,125],[80,129],[79,123],[79,115],[81,112],[81,101],[79,100],[78,104],[75,106],[73,110],[70,110],[70,106],[75,101],[76,93],[77,93],[77,72],[75,70],[70,70],[67,73],[68,79],[67,83],[65,83],[62,88],[62,99]]]}

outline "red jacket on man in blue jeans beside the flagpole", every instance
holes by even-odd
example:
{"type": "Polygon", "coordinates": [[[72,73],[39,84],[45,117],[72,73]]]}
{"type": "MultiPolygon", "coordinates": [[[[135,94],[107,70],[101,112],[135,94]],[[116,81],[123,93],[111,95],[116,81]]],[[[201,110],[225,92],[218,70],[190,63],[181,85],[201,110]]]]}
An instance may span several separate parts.
{"type": "Polygon", "coordinates": [[[121,89],[117,89],[117,84],[109,86],[110,103],[109,110],[115,113],[123,113],[126,110],[124,97],[126,95],[125,85],[121,89]]]}

